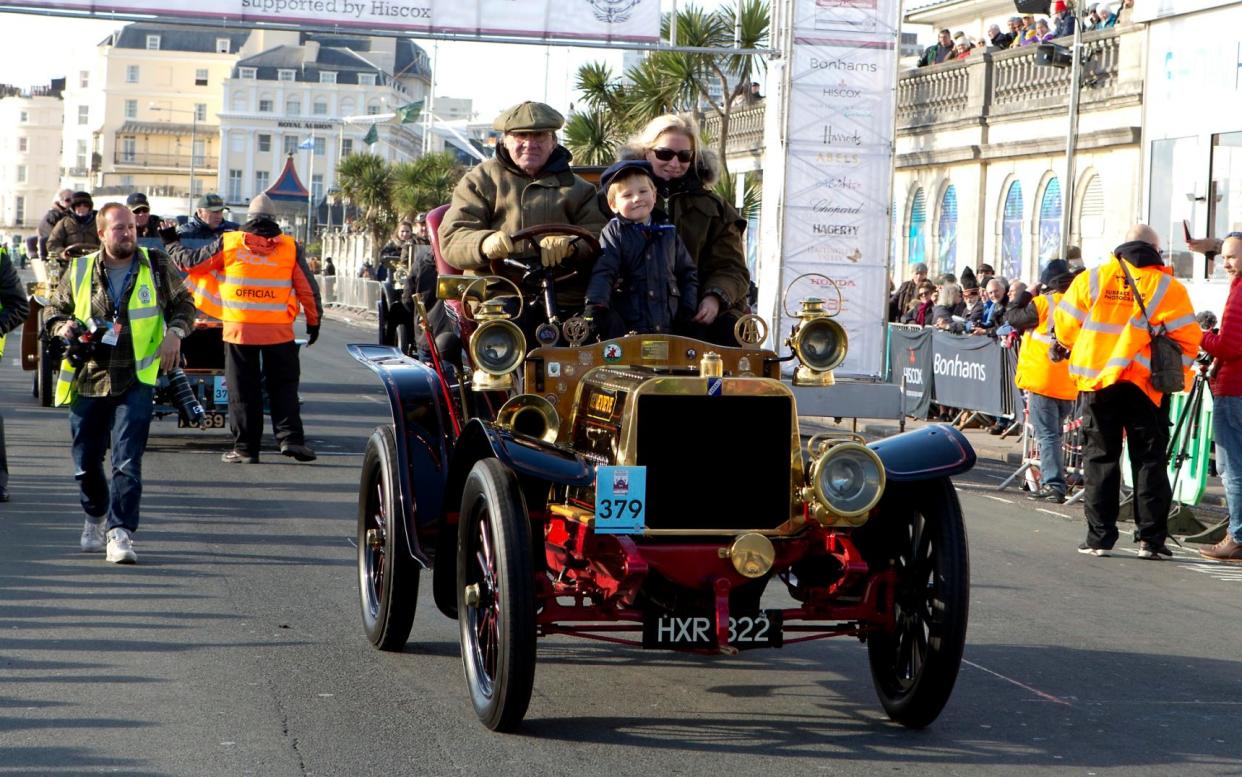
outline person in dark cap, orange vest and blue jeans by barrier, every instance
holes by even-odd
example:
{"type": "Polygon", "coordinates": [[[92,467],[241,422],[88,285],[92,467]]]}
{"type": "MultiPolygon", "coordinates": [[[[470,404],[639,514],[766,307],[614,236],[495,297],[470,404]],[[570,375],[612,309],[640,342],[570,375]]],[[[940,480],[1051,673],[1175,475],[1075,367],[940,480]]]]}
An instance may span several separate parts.
{"type": "Polygon", "coordinates": [[[1040,479],[1043,485],[1032,499],[1057,504],[1066,500],[1061,429],[1073,415],[1078,386],[1069,377],[1069,362],[1062,357],[1063,353],[1053,350],[1057,343],[1053,313],[1073,277],[1068,262],[1052,259],[1040,278],[1045,293],[1032,299],[1021,312],[1007,315],[1015,329],[1026,329],[1013,382],[1027,392],[1027,415],[1040,444],[1040,479]]]}

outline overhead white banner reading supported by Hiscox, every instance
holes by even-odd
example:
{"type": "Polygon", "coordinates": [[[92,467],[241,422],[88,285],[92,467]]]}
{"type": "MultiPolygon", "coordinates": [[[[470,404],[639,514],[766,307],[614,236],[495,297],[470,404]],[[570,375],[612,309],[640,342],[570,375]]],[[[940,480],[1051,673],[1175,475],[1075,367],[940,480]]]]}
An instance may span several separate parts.
{"type": "Polygon", "coordinates": [[[5,5],[92,15],[303,24],[410,32],[604,41],[660,40],[660,0],[10,0],[5,5]]]}

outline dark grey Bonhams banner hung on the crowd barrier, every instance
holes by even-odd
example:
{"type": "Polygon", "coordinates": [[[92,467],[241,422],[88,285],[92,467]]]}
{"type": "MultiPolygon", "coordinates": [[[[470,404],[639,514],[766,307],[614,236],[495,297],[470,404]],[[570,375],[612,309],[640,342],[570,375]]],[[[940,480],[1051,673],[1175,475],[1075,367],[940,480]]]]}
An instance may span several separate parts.
{"type": "Polygon", "coordinates": [[[936,330],[932,335],[932,372],[935,376],[936,402],[990,416],[1012,412],[1012,408],[1006,407],[1011,393],[1005,385],[1002,350],[991,338],[936,330]]]}

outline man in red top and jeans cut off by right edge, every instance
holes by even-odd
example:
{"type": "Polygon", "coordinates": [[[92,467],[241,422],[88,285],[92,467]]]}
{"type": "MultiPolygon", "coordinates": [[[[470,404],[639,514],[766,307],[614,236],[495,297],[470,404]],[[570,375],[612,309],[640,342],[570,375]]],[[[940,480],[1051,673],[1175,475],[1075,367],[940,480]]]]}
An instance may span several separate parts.
{"type": "Polygon", "coordinates": [[[1242,292],[1238,290],[1242,232],[1230,232],[1218,248],[1230,276],[1230,297],[1221,313],[1220,330],[1205,331],[1200,348],[1217,367],[1211,376],[1212,437],[1230,508],[1230,525],[1220,542],[1199,552],[1215,561],[1242,562],[1242,292]]]}

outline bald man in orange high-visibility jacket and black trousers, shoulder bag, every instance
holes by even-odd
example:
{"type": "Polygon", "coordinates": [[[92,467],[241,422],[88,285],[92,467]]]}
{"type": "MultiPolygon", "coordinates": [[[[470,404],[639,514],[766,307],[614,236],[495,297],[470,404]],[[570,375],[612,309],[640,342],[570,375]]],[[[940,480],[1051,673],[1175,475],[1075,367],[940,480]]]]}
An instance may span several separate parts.
{"type": "Polygon", "coordinates": [[[1078,276],[1057,307],[1057,339],[1071,350],[1069,375],[1087,393],[1083,413],[1083,468],[1087,541],[1078,552],[1107,556],[1117,542],[1122,487],[1122,433],[1134,482],[1134,523],[1139,557],[1171,556],[1166,472],[1169,413],[1165,396],[1151,385],[1153,329],[1180,348],[1182,379],[1189,382],[1202,333],[1186,287],[1160,258],[1160,237],[1146,225],[1125,236],[1113,258],[1078,276]],[[1148,317],[1130,290],[1134,278],[1148,317]]]}

